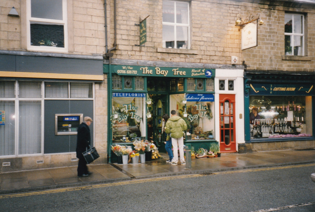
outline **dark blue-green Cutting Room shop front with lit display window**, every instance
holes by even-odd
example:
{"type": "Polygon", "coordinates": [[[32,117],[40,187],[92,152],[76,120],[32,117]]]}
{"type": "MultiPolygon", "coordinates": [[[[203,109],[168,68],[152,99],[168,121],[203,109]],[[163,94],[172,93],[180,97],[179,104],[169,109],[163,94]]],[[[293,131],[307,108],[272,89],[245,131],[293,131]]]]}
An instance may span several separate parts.
{"type": "Polygon", "coordinates": [[[246,73],[244,93],[245,141],[253,149],[314,146],[313,75],[246,73]]]}

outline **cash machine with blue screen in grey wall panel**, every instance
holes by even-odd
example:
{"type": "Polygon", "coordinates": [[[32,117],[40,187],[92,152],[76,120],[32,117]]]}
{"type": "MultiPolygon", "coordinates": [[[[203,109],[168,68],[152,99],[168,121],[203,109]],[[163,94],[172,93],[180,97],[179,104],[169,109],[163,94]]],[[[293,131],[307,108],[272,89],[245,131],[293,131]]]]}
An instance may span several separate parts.
{"type": "Polygon", "coordinates": [[[83,114],[55,114],[55,135],[77,135],[83,114]]]}

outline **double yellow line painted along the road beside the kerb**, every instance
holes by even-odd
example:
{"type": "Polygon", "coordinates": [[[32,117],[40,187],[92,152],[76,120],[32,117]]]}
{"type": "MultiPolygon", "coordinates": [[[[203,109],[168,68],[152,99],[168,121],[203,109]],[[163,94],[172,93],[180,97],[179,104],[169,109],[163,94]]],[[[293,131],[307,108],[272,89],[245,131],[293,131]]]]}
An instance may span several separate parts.
{"type": "MultiPolygon", "coordinates": [[[[270,167],[270,168],[257,168],[257,169],[245,169],[245,170],[234,170],[234,171],[222,171],[222,172],[214,172],[213,174],[222,175],[222,174],[235,174],[235,173],[245,173],[245,172],[255,172],[255,171],[268,171],[268,170],[279,170],[279,169],[290,169],[290,168],[299,168],[299,167],[308,167],[315,166],[315,164],[303,164],[303,165],[289,165],[289,166],[280,166],[280,167],[270,167]]],[[[151,179],[141,179],[141,180],[132,180],[132,181],[122,181],[122,182],[114,182],[107,184],[98,184],[92,186],[79,186],[65,189],[52,189],[46,191],[39,192],[26,192],[26,193],[17,193],[17,194],[4,194],[0,195],[0,199],[3,198],[13,198],[13,197],[26,197],[32,195],[40,195],[40,194],[51,194],[51,193],[59,193],[59,192],[69,192],[69,191],[77,191],[81,189],[91,189],[91,188],[103,188],[103,187],[111,187],[111,186],[121,186],[121,185],[132,185],[144,182],[156,182],[163,180],[174,180],[174,179],[183,179],[183,178],[192,178],[192,177],[201,177],[202,174],[192,174],[192,175],[177,175],[177,176],[169,176],[169,177],[159,177],[159,178],[151,178],[151,179]]]]}

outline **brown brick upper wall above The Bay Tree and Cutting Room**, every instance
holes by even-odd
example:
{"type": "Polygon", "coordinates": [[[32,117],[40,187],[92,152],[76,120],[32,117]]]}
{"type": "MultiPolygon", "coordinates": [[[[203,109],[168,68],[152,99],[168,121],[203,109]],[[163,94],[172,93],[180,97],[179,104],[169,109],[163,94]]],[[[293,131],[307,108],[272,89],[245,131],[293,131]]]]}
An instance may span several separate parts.
{"type": "MultiPolygon", "coordinates": [[[[280,1],[206,0],[191,1],[191,50],[162,51],[162,0],[117,0],[117,50],[118,59],[140,59],[167,62],[194,62],[231,64],[231,56],[249,70],[313,71],[315,64],[309,60],[283,59],[284,11],[304,12],[307,19],[307,56],[314,56],[314,6],[280,1]],[[271,4],[275,3],[275,4],[271,4]],[[277,5],[276,5],[277,4],[277,5]],[[258,46],[241,50],[240,27],[235,26],[237,14],[243,18],[253,14],[265,21],[258,26],[258,46]],[[139,44],[139,18],[147,19],[147,42],[139,44]],[[169,53],[169,52],[172,53],[169,53]],[[185,53],[186,51],[186,53],[185,53]],[[193,51],[193,52],[192,52],[193,51]],[[184,53],[183,53],[184,52],[184,53]]],[[[113,0],[111,0],[113,11],[113,0]]],[[[113,13],[111,12],[111,38],[113,38],[113,13]]],[[[110,41],[110,45],[113,40],[110,41]]]]}

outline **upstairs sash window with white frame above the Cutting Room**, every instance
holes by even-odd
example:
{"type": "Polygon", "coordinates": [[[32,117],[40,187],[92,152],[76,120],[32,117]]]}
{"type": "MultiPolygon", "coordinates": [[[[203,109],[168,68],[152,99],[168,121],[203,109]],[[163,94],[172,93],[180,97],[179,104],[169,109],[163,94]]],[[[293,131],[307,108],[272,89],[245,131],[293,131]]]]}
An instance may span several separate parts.
{"type": "Polygon", "coordinates": [[[304,56],[304,15],[284,15],[284,52],[285,55],[304,56]]]}

